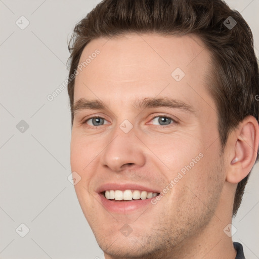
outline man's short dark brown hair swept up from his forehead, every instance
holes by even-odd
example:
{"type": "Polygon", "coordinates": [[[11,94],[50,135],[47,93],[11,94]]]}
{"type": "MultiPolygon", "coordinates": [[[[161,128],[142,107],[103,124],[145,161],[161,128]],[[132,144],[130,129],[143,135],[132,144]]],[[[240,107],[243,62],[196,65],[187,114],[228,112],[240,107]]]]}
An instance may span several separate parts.
{"type": "MultiPolygon", "coordinates": [[[[253,50],[253,35],[241,14],[231,10],[225,2],[104,0],[74,28],[68,46],[71,53],[69,78],[77,69],[81,53],[91,39],[130,32],[195,34],[202,39],[213,58],[214,69],[208,91],[218,109],[218,130],[223,149],[229,133],[246,116],[252,115],[258,121],[258,64],[253,50]],[[233,28],[227,27],[230,21],[235,25],[233,28]]],[[[74,78],[68,81],[72,124],[74,81],[74,78]]],[[[238,183],[233,216],[240,206],[249,175],[250,172],[238,183]]]]}

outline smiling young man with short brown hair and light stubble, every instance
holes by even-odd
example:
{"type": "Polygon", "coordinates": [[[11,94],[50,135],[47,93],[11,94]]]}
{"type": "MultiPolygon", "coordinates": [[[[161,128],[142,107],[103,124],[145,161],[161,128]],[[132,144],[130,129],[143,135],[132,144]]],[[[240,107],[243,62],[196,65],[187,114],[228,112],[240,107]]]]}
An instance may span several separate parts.
{"type": "Polygon", "coordinates": [[[71,169],[105,258],[244,258],[226,234],[259,142],[241,15],[220,0],[107,0],[69,46],[71,169]]]}

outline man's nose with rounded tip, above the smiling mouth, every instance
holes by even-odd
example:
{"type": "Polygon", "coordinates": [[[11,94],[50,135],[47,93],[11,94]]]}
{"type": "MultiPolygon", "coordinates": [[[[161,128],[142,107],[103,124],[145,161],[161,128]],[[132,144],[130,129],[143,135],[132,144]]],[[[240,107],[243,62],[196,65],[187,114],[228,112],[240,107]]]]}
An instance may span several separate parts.
{"type": "Polygon", "coordinates": [[[119,127],[101,154],[101,164],[112,171],[141,167],[145,164],[144,144],[135,135],[134,128],[124,133],[119,127]]]}

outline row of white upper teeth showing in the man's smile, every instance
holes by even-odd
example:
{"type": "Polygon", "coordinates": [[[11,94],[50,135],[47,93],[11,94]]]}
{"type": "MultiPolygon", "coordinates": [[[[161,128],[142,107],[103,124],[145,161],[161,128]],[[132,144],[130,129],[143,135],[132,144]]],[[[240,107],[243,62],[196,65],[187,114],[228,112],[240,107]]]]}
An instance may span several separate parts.
{"type": "Polygon", "coordinates": [[[109,190],[105,191],[105,198],[106,199],[115,199],[115,200],[145,200],[150,199],[152,197],[157,196],[158,193],[156,192],[146,192],[146,191],[138,191],[138,190],[109,190]]]}

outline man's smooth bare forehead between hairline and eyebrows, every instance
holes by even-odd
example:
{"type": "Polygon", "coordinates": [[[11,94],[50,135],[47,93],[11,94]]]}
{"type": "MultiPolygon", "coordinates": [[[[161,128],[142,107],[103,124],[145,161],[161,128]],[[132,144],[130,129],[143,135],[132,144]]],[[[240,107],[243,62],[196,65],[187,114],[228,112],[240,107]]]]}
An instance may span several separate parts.
{"type": "Polygon", "coordinates": [[[214,106],[205,83],[212,69],[210,61],[210,52],[195,35],[100,37],[90,41],[81,54],[74,101],[84,97],[122,103],[125,97],[159,95],[191,103],[205,99],[214,106]]]}

